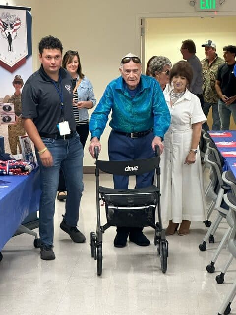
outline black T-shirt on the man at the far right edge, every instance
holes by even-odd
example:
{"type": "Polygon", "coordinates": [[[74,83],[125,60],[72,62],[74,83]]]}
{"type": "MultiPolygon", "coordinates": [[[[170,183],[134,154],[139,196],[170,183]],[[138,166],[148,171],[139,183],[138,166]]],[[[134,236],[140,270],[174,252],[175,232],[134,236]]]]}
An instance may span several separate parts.
{"type": "Polygon", "coordinates": [[[236,95],[236,77],[234,75],[234,64],[224,63],[219,66],[216,80],[220,81],[222,94],[230,97],[236,95]]]}

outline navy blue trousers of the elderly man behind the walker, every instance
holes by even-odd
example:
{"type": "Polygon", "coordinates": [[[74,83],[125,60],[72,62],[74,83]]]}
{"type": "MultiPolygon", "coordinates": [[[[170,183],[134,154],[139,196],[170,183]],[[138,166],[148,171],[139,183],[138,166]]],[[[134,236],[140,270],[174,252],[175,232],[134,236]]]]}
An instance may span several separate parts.
{"type": "MultiPolygon", "coordinates": [[[[151,143],[153,132],[141,138],[130,138],[111,131],[108,139],[108,155],[110,161],[124,161],[141,158],[153,158],[155,156],[151,143]]],[[[136,176],[135,188],[143,188],[152,185],[153,172],[136,176]]],[[[128,189],[129,176],[113,176],[114,188],[128,189]]]]}

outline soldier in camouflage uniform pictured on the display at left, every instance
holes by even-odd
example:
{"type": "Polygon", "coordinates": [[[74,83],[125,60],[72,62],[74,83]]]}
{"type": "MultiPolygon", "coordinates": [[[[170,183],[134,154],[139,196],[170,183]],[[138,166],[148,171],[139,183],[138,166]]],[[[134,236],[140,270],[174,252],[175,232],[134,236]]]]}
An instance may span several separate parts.
{"type": "Polygon", "coordinates": [[[24,85],[22,77],[20,75],[16,75],[12,84],[15,88],[15,93],[8,99],[7,102],[14,104],[16,122],[15,124],[8,125],[8,141],[10,144],[11,154],[17,154],[17,146],[19,147],[19,153],[22,152],[19,136],[24,136],[26,134],[21,119],[21,88],[24,85]]]}

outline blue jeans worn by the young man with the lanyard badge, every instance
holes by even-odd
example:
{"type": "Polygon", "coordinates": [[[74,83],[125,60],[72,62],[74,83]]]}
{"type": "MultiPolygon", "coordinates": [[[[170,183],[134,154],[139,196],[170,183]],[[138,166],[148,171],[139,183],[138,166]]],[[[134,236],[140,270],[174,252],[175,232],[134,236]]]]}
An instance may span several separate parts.
{"type": "Polygon", "coordinates": [[[80,199],[84,189],[84,151],[78,134],[71,139],[42,138],[42,141],[52,154],[53,166],[43,166],[35,148],[42,189],[39,204],[39,235],[43,245],[51,245],[53,244],[53,216],[60,167],[67,187],[64,219],[69,226],[76,226],[79,220],[80,199]]]}

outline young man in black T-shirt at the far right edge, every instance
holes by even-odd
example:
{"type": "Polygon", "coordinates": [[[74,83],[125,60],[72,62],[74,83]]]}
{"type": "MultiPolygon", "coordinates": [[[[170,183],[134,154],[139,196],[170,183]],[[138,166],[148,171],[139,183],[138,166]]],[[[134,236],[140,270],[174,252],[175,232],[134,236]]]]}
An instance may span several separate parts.
{"type": "Polygon", "coordinates": [[[218,69],[215,88],[220,96],[219,115],[221,130],[229,130],[231,114],[236,124],[236,77],[234,75],[236,46],[225,46],[223,52],[225,63],[218,69]]]}

